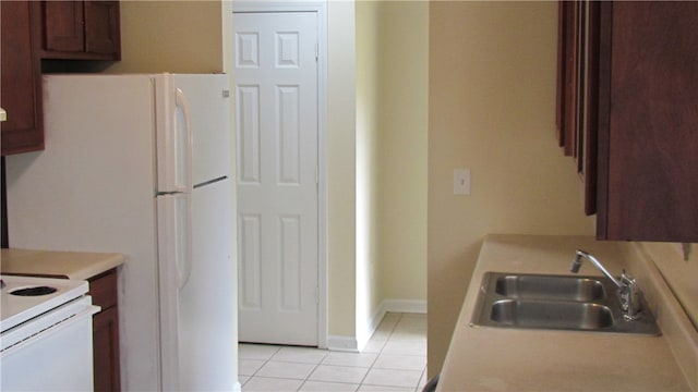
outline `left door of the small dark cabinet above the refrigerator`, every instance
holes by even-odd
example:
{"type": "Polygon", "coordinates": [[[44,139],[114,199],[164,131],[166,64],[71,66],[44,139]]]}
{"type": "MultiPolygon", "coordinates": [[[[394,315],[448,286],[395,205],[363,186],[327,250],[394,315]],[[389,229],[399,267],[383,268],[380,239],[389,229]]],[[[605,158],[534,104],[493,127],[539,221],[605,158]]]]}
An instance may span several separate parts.
{"type": "Polygon", "coordinates": [[[45,1],[43,11],[46,50],[84,50],[84,15],[81,1],[45,1]]]}

